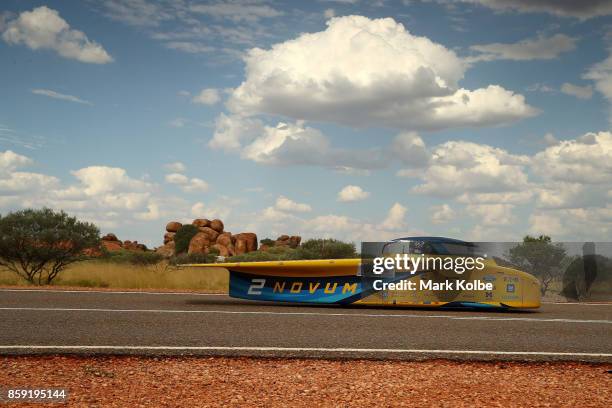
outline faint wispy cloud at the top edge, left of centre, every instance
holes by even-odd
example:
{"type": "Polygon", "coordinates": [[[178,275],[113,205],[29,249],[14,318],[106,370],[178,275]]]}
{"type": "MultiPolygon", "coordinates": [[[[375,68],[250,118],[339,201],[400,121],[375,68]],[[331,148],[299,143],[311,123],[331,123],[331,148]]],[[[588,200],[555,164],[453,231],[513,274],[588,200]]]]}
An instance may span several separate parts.
{"type": "Polygon", "coordinates": [[[235,22],[256,22],[262,18],[273,18],[283,15],[283,12],[267,4],[249,4],[236,1],[195,4],[191,6],[191,11],[235,22]]]}

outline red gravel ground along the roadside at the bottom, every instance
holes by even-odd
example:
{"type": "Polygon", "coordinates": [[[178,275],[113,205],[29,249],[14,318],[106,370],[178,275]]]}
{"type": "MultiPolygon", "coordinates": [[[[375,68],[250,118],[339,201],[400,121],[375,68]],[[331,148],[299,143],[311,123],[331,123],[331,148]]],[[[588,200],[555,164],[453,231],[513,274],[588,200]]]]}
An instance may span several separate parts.
{"type": "Polygon", "coordinates": [[[609,407],[610,370],[586,363],[5,356],[0,386],[67,387],[68,405],[88,407],[609,407]]]}

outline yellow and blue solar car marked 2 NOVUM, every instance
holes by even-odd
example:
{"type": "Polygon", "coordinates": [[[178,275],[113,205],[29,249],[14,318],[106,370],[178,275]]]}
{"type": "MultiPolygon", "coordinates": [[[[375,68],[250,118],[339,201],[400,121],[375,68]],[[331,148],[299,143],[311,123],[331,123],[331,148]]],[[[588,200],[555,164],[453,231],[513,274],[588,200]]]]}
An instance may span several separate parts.
{"type": "MultiPolygon", "coordinates": [[[[384,257],[397,254],[447,260],[475,256],[471,243],[442,237],[399,238],[382,247],[381,255],[384,257]]],[[[189,266],[227,269],[230,274],[229,295],[240,299],[404,307],[540,307],[539,281],[526,272],[499,265],[493,258],[482,258],[481,269],[461,274],[439,267],[420,267],[414,271],[396,269],[376,276],[371,273],[371,268],[364,268],[369,262],[362,257],[189,266]],[[466,290],[466,287],[476,286],[472,283],[480,283],[486,288],[466,290]],[[435,289],[445,285],[449,288],[435,289]],[[413,289],[408,290],[408,287],[413,289]]],[[[439,263],[432,262],[432,265],[439,263]]]]}

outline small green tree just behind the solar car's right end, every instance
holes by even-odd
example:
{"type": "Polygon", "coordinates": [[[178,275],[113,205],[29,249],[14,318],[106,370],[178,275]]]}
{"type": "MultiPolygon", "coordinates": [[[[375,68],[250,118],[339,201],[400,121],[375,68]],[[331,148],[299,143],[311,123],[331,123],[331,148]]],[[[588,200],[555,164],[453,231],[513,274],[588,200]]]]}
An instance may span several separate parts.
{"type": "Polygon", "coordinates": [[[544,296],[550,283],[561,273],[566,251],[561,244],[553,244],[547,235],[537,238],[527,235],[508,255],[513,264],[540,279],[544,296]]]}

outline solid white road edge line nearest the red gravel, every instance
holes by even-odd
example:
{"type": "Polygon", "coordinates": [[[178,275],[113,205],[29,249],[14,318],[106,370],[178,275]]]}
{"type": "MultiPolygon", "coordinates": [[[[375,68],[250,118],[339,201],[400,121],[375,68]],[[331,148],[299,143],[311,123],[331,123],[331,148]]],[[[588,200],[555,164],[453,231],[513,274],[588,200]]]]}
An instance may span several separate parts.
{"type": "Polygon", "coordinates": [[[502,356],[566,356],[566,357],[612,357],[610,353],[570,353],[549,351],[498,351],[498,350],[423,350],[423,349],[384,349],[384,348],[327,348],[327,347],[232,347],[232,346],[37,346],[7,345],[0,351],[9,350],[146,350],[146,351],[281,351],[281,352],[325,352],[325,353],[394,353],[394,354],[475,354],[502,356]]]}

